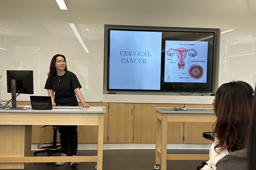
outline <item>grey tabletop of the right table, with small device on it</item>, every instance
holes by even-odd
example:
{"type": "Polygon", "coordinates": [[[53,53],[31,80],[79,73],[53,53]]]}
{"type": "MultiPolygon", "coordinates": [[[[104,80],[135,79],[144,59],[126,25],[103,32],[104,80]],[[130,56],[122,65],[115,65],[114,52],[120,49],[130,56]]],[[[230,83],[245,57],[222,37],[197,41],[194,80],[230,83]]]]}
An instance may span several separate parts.
{"type": "Polygon", "coordinates": [[[181,113],[181,114],[214,114],[213,108],[186,108],[186,111],[173,111],[172,107],[155,107],[160,113],[181,113]]]}

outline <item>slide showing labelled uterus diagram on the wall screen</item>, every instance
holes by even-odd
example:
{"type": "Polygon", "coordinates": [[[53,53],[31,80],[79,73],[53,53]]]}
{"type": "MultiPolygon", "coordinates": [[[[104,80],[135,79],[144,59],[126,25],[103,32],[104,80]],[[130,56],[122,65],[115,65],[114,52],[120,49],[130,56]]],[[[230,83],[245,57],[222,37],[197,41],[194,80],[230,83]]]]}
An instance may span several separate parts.
{"type": "Polygon", "coordinates": [[[207,82],[208,41],[166,41],[165,82],[207,82]]]}

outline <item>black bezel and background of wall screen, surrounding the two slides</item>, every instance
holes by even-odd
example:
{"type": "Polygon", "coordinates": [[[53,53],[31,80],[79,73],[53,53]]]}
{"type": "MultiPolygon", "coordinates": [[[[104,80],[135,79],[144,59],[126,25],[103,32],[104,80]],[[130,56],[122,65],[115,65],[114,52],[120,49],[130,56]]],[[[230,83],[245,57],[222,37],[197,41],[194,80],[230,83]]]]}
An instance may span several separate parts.
{"type": "MultiPolygon", "coordinates": [[[[202,28],[170,28],[170,27],[143,27],[143,26],[112,26],[108,28],[108,64],[107,64],[107,90],[108,91],[160,91],[160,92],[212,92],[213,90],[213,64],[214,64],[214,48],[215,48],[215,32],[216,29],[202,29],[202,28]],[[128,28],[127,28],[128,27],[128,28]],[[161,53],[161,79],[160,79],[160,90],[150,89],[110,89],[109,88],[109,71],[110,71],[110,31],[151,31],[151,32],[162,32],[162,33],[185,33],[185,34],[202,34],[210,35],[211,41],[208,41],[208,64],[207,64],[207,83],[165,83],[164,82],[164,64],[165,64],[165,51],[161,53]]],[[[203,37],[202,37],[203,39],[203,37]]],[[[209,38],[208,38],[209,39],[209,38]]],[[[165,49],[165,40],[185,40],[185,39],[168,39],[162,36],[162,49],[165,49]]],[[[186,39],[192,41],[193,39],[186,39]]],[[[207,40],[207,39],[206,39],[207,40]]],[[[202,41],[206,41],[203,39],[202,41]]]]}

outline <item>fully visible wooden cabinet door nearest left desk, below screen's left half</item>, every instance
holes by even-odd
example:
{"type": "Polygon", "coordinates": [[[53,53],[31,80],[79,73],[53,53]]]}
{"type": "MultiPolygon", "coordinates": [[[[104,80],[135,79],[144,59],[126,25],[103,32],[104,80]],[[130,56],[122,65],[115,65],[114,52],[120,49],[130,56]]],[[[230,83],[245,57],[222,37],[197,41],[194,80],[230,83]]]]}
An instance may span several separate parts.
{"type": "Polygon", "coordinates": [[[133,142],[134,103],[109,103],[108,143],[133,142]]]}

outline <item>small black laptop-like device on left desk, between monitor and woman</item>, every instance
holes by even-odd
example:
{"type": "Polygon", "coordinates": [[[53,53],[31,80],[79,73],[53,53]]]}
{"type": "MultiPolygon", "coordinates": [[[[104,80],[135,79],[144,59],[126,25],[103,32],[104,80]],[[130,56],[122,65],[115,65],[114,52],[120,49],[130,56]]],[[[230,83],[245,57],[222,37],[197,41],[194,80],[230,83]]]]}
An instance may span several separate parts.
{"type": "Polygon", "coordinates": [[[30,96],[31,108],[39,110],[53,109],[50,96],[30,96]]]}

